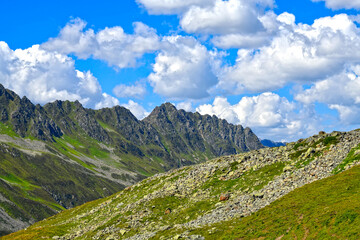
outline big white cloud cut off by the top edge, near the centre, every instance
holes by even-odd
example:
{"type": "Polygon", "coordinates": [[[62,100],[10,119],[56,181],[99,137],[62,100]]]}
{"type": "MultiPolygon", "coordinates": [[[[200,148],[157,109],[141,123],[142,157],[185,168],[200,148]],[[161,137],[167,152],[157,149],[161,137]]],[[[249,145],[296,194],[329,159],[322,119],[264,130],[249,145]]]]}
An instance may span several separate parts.
{"type": "MultiPolygon", "coordinates": [[[[177,14],[180,25],[188,33],[216,35],[217,46],[248,46],[252,34],[265,32],[265,8],[273,0],[137,0],[151,14],[177,14]],[[243,35],[246,36],[243,36],[243,35]],[[224,36],[229,35],[229,36],[224,36]],[[225,37],[223,39],[222,37],[225,37]],[[240,40],[241,44],[236,42],[240,40]],[[231,44],[230,44],[231,43],[231,44]]],[[[259,42],[259,37],[256,36],[259,42]]],[[[264,39],[262,37],[261,42],[264,39]]],[[[252,43],[252,46],[254,43],[252,43]]]]}

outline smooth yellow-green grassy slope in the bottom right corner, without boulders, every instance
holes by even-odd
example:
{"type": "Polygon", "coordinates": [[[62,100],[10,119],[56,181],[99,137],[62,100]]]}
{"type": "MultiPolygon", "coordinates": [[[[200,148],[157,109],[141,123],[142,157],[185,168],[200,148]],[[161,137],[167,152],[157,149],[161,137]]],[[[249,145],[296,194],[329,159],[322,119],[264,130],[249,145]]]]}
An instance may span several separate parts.
{"type": "Polygon", "coordinates": [[[360,167],[305,185],[249,217],[192,233],[206,239],[359,239],[360,167]]]}

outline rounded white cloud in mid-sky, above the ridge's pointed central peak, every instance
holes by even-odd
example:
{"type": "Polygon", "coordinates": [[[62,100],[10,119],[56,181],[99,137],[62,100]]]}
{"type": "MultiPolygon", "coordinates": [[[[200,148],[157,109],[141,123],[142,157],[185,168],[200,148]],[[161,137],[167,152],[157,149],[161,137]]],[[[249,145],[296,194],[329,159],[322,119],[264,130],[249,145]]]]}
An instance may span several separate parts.
{"type": "Polygon", "coordinates": [[[206,47],[182,36],[165,37],[162,46],[148,77],[154,92],[171,99],[207,97],[217,78],[206,47]]]}

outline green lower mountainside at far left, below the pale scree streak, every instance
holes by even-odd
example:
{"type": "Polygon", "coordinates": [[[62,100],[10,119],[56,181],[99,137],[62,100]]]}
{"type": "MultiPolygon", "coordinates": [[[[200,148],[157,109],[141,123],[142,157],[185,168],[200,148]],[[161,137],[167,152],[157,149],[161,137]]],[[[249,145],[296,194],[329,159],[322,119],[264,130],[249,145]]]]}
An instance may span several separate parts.
{"type": "Polygon", "coordinates": [[[0,234],[124,187],[46,148],[40,151],[39,143],[31,141],[38,151],[0,143],[0,234]]]}

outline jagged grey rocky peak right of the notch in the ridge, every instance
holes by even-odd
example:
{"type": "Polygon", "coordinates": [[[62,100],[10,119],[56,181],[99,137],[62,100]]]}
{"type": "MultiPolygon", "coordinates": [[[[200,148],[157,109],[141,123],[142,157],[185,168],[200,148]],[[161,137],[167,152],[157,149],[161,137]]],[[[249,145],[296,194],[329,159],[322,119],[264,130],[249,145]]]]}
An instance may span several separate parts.
{"type": "Polygon", "coordinates": [[[249,128],[229,124],[216,116],[177,110],[170,103],[156,107],[143,121],[154,126],[176,154],[209,151],[222,156],[262,147],[249,128]]]}

